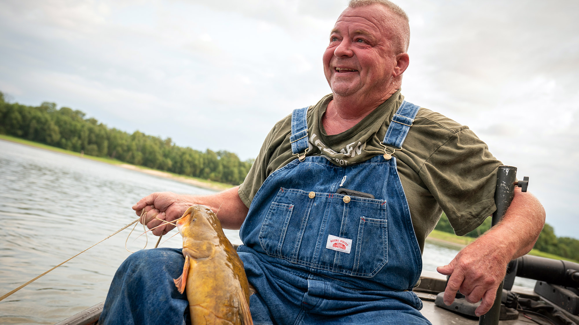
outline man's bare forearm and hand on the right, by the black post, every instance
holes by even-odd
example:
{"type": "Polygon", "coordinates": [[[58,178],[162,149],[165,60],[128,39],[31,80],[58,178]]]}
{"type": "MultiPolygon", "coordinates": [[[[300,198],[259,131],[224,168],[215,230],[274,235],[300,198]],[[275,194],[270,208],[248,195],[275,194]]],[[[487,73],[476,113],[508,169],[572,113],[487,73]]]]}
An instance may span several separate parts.
{"type": "Polygon", "coordinates": [[[445,304],[452,304],[460,290],[468,302],[482,299],[475,311],[477,316],[488,312],[508,263],[529,253],[544,224],[545,209],[537,198],[515,187],[515,197],[503,219],[463,248],[448,265],[437,268],[439,273],[450,275],[444,291],[445,304]]]}

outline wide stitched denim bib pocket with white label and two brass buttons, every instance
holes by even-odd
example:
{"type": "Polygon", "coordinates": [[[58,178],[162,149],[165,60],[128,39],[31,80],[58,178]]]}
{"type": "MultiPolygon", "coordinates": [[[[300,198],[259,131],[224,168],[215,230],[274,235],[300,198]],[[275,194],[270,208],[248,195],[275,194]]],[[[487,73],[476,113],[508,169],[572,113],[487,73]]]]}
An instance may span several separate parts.
{"type": "Polygon", "coordinates": [[[386,201],[281,188],[259,231],[265,252],[306,267],[371,278],[388,261],[386,201]]]}

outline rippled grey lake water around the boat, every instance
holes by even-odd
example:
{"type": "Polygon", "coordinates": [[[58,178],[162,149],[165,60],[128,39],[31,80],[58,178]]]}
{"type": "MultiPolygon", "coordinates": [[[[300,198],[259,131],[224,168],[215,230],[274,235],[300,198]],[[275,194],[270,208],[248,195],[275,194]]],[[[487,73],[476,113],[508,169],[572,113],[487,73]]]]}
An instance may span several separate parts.
{"type": "MultiPolygon", "coordinates": [[[[156,191],[214,192],[0,140],[0,296],[135,220],[130,207],[156,191]]],[[[145,243],[144,236],[133,241],[142,226],[136,230],[129,239],[133,251],[145,243]]],[[[116,268],[130,254],[124,249],[128,234],[129,229],[120,232],[0,301],[0,323],[54,324],[105,300],[116,268]]],[[[237,231],[226,235],[241,243],[237,231]]],[[[155,245],[153,237],[148,248],[155,245]]],[[[160,247],[180,248],[181,236],[160,247]]],[[[423,269],[435,271],[457,252],[427,242],[423,269]]],[[[528,279],[515,284],[534,287],[528,279]]]]}

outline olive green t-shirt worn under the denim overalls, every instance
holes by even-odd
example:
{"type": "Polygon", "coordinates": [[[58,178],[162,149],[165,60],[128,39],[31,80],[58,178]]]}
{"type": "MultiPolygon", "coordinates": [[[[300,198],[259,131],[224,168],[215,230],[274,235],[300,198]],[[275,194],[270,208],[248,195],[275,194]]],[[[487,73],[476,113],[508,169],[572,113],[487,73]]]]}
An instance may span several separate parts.
{"type": "MultiPolygon", "coordinates": [[[[336,135],[327,135],[321,123],[331,100],[332,95],[326,95],[307,110],[307,156],[324,156],[343,166],[384,154],[380,142],[404,100],[400,90],[354,127],[336,135]]],[[[241,200],[248,207],[267,176],[296,158],[290,135],[291,115],[276,123],[266,136],[239,187],[241,200]]],[[[393,152],[393,147],[387,151],[393,152]]],[[[478,227],[496,209],[493,197],[501,162],[467,126],[420,108],[402,150],[396,150],[393,156],[397,158],[398,175],[421,251],[443,210],[461,236],[478,227]]]]}

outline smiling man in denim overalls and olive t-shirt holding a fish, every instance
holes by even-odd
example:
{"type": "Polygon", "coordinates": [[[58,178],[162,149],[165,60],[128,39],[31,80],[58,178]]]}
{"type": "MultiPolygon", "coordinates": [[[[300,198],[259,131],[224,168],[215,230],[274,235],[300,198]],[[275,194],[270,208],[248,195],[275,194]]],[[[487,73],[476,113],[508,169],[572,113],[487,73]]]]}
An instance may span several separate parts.
{"type": "MultiPolygon", "coordinates": [[[[429,324],[412,292],[424,239],[442,210],[459,235],[479,226],[495,209],[501,163],[467,127],[404,101],[408,44],[398,6],[351,1],[323,57],[332,94],[273,127],[241,186],[153,193],[133,209],[145,209],[153,228],[162,223],[155,217],[203,204],[223,227],[240,228],[255,324],[429,324]]],[[[445,302],[460,290],[482,299],[478,315],[487,312],[508,261],[529,252],[543,223],[536,198],[516,191],[498,226],[438,268],[450,275],[445,302]]],[[[182,265],[177,249],[127,258],[102,323],[184,323],[186,298],[171,285],[182,265]]]]}

